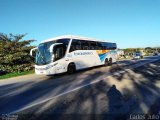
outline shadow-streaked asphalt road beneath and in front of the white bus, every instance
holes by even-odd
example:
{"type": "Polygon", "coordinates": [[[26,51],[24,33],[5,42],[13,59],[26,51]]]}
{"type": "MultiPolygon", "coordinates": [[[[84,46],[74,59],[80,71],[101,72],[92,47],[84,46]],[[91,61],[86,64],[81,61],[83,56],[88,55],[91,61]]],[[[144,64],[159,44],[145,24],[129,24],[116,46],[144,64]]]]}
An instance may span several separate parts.
{"type": "MultiPolygon", "coordinates": [[[[159,59],[155,56],[119,61],[73,75],[28,75],[1,80],[0,114],[153,112],[152,106],[160,103],[159,59]]],[[[160,106],[154,109],[158,111],[160,106]]]]}

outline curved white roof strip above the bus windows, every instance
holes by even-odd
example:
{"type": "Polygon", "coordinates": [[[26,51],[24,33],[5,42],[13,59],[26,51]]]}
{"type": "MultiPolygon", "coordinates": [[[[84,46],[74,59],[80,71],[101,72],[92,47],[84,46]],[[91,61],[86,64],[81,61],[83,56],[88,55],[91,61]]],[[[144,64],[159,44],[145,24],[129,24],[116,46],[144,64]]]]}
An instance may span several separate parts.
{"type": "Polygon", "coordinates": [[[44,42],[49,42],[49,41],[54,41],[54,40],[58,40],[58,39],[80,39],[80,40],[88,40],[88,41],[100,41],[100,42],[110,42],[110,41],[105,41],[105,40],[97,40],[95,38],[88,38],[88,37],[81,37],[81,36],[75,36],[75,35],[63,35],[63,36],[58,36],[58,37],[54,37],[54,38],[50,38],[50,39],[46,39],[41,43],[44,42]]]}

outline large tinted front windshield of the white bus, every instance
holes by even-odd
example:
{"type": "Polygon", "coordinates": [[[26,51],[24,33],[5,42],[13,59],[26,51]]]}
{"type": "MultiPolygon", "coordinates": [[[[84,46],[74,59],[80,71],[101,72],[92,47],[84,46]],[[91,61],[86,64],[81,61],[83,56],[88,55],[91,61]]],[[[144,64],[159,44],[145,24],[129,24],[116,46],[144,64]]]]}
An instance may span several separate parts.
{"type": "Polygon", "coordinates": [[[50,41],[39,44],[38,52],[36,53],[36,59],[35,59],[36,65],[46,65],[51,62],[53,53],[50,53],[49,49],[50,46],[54,43],[63,43],[67,48],[69,39],[59,39],[56,41],[50,41]]]}

